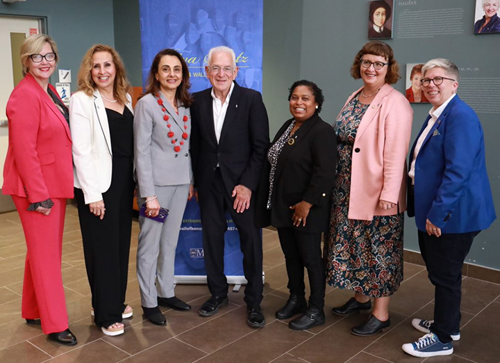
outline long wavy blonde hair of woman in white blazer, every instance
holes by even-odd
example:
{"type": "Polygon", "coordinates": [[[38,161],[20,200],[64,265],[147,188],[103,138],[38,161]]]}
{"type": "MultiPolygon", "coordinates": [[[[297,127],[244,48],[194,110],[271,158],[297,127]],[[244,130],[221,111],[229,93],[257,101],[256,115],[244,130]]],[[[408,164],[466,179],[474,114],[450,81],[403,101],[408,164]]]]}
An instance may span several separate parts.
{"type": "Polygon", "coordinates": [[[92,79],[92,66],[94,65],[94,54],[98,51],[106,51],[111,54],[116,69],[115,82],[113,83],[113,96],[122,104],[126,104],[126,96],[130,88],[130,83],[128,83],[126,79],[125,65],[117,51],[108,45],[94,45],[85,53],[85,56],[83,56],[80,69],[78,70],[78,90],[82,90],[85,92],[85,95],[91,96],[97,88],[97,85],[92,79]]]}

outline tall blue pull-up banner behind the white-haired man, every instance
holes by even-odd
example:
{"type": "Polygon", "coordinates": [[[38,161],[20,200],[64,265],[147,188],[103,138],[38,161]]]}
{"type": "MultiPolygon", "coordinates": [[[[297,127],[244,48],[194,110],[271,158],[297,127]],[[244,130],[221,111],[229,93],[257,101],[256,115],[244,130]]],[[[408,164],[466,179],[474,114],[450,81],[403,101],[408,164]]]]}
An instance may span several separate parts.
{"type": "MultiPolygon", "coordinates": [[[[154,56],[172,48],[188,63],[190,92],[210,88],[205,74],[208,51],[226,45],[236,54],[238,84],[262,92],[263,0],[140,0],[139,6],[144,86],[154,56]]],[[[242,284],[246,280],[240,236],[229,214],[226,221],[224,273],[228,282],[242,284]]],[[[181,277],[206,276],[201,234],[199,207],[192,200],[185,210],[176,250],[177,283],[203,282],[181,277]]]]}

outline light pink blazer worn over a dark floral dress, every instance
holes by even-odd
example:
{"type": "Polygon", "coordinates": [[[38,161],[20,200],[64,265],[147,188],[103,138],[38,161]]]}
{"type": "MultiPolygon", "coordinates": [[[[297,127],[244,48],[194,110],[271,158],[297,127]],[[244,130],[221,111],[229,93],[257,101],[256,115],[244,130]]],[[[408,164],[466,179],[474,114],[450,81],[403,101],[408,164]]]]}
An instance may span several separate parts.
{"type": "Polygon", "coordinates": [[[354,140],[349,219],[372,220],[394,215],[398,208],[406,211],[406,154],[412,121],[408,100],[386,83],[363,115],[354,140]],[[378,200],[397,203],[398,208],[380,209],[378,200]]]}

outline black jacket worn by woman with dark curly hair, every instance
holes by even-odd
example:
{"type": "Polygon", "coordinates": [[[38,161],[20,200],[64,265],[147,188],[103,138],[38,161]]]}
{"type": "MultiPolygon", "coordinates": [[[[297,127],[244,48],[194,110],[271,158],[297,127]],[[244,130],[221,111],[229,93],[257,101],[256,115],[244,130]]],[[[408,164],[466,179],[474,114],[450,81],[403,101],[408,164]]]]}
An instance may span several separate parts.
{"type": "MultiPolygon", "coordinates": [[[[272,144],[290,126],[288,120],[279,129],[272,144]]],[[[337,165],[335,131],[315,113],[295,131],[294,144],[285,143],[274,173],[271,210],[266,209],[269,197],[269,171],[266,161],[260,179],[256,221],[259,227],[294,227],[290,206],[305,200],[313,204],[306,227],[294,227],[303,232],[323,232],[329,222],[331,193],[337,165]]],[[[267,159],[266,159],[267,160],[267,159]]]]}

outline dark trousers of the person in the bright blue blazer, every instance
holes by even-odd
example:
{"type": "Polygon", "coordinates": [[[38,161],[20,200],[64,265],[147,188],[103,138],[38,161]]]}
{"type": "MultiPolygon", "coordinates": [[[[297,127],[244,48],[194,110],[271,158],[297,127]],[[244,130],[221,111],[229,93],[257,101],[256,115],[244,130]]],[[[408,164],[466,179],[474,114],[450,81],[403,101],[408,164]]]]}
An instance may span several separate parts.
{"type": "Polygon", "coordinates": [[[442,343],[460,332],[462,266],[478,232],[429,236],[418,232],[420,252],[426,263],[428,278],[435,286],[434,323],[431,332],[442,343]]]}

